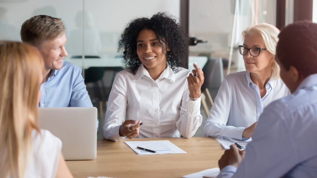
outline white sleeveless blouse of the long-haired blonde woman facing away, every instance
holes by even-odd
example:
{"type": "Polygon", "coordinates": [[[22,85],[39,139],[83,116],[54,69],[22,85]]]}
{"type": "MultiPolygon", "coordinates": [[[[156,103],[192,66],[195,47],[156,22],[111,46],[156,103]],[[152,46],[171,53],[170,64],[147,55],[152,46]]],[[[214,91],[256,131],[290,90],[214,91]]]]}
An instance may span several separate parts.
{"type": "Polygon", "coordinates": [[[41,135],[32,132],[32,154],[28,156],[25,178],[55,178],[61,156],[61,140],[48,130],[41,130],[41,135]]]}

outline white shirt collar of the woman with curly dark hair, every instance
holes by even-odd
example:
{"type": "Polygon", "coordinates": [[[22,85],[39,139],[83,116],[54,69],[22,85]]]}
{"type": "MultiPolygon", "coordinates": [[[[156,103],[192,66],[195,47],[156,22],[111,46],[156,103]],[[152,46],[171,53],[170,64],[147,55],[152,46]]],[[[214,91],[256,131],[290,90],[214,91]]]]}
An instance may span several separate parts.
{"type": "MultiPolygon", "coordinates": [[[[166,63],[166,68],[165,70],[161,73],[161,75],[159,76],[158,79],[162,79],[162,78],[166,78],[166,79],[170,79],[173,82],[175,82],[175,74],[173,69],[166,63]]],[[[135,73],[135,77],[134,77],[134,81],[138,81],[139,79],[141,79],[142,76],[148,76],[151,78],[149,72],[146,70],[146,68],[144,67],[143,64],[140,65],[140,67],[138,68],[137,72],[135,73]]]]}

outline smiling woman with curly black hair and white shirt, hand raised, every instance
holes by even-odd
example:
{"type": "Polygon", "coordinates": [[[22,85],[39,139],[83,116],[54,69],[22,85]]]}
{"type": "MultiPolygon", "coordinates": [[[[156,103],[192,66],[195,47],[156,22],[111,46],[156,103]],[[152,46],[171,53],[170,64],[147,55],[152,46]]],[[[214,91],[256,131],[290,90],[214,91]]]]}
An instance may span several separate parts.
{"type": "Polygon", "coordinates": [[[202,123],[204,74],[197,65],[194,75],[179,67],[186,60],[187,43],[176,20],[165,13],[137,18],[126,26],[118,47],[126,69],[113,82],[104,138],[190,138],[195,134],[202,123]]]}

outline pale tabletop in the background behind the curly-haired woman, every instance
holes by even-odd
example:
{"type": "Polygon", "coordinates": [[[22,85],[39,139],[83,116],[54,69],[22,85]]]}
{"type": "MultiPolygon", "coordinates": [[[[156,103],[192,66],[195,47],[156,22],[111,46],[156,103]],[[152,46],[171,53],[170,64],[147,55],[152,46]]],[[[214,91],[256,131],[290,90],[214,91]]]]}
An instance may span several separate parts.
{"type": "MultiPolygon", "coordinates": [[[[66,59],[68,62],[71,62],[82,69],[88,69],[89,67],[123,67],[121,63],[122,58],[86,58],[82,59],[66,59]]],[[[188,67],[189,70],[193,70],[193,63],[196,63],[198,67],[203,68],[207,62],[207,57],[205,56],[189,56],[188,58],[188,67]]],[[[123,67],[124,68],[124,67],[123,67]]]]}

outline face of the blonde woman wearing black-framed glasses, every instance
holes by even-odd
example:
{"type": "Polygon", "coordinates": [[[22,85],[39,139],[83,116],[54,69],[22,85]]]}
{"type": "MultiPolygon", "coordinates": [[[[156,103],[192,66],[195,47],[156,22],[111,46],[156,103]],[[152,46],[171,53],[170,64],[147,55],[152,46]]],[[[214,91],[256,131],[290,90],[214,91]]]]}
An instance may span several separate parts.
{"type": "MultiPolygon", "coordinates": [[[[258,33],[251,33],[245,36],[243,46],[247,48],[266,48],[262,37],[258,33]]],[[[252,56],[250,52],[243,56],[244,66],[246,71],[250,73],[259,73],[272,71],[272,64],[274,62],[273,55],[268,50],[261,50],[256,57],[252,56]]]]}

